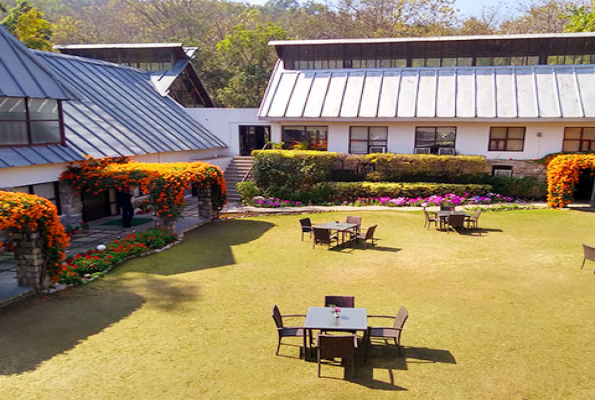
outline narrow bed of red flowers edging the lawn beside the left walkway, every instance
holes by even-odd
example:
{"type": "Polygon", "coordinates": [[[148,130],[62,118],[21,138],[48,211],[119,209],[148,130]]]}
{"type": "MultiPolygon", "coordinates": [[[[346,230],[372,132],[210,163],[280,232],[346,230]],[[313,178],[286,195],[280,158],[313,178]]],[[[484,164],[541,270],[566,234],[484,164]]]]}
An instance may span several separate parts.
{"type": "Polygon", "coordinates": [[[55,280],[58,283],[79,284],[85,276],[101,274],[127,258],[139,256],[148,250],[161,249],[175,240],[176,235],[159,228],[132,233],[108,243],[105,250],[92,250],[66,259],[55,280]]]}

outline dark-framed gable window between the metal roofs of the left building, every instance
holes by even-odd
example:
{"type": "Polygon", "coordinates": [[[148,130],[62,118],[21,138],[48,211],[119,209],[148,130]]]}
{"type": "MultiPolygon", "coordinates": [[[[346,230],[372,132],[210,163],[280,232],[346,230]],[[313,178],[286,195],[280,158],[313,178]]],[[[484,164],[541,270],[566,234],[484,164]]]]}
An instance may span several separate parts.
{"type": "Polygon", "coordinates": [[[58,100],[0,97],[0,146],[62,144],[58,100]]]}

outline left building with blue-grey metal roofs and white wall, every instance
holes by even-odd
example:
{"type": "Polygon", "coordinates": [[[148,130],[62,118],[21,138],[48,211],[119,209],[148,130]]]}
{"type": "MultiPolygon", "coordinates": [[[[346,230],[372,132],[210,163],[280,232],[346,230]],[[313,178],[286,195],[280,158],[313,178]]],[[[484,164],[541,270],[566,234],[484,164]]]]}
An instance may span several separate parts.
{"type": "Polygon", "coordinates": [[[46,197],[66,224],[76,224],[117,214],[118,208],[113,192],[81,199],[59,183],[69,161],[129,156],[146,162],[209,160],[224,167],[218,156],[227,145],[191,118],[165,86],[159,88],[155,76],[31,51],[0,27],[0,187],[46,197]]]}

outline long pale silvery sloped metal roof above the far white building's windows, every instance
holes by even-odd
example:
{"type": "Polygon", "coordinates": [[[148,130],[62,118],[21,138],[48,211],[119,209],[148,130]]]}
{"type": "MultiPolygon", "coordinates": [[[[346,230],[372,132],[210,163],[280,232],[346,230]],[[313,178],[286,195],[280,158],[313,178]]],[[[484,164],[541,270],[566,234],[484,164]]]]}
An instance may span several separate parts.
{"type": "Polygon", "coordinates": [[[595,65],[284,70],[262,119],[595,118],[595,65]]]}

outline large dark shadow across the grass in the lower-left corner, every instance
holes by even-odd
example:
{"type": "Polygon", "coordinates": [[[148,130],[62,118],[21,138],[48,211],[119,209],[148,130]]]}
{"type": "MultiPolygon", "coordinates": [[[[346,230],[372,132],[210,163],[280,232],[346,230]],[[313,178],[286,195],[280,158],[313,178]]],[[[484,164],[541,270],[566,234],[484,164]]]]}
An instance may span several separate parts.
{"type": "Polygon", "coordinates": [[[196,287],[187,282],[150,277],[134,284],[101,286],[98,283],[51,297],[37,297],[3,310],[0,375],[34,370],[126,319],[145,304],[167,312],[197,298],[196,287]]]}

